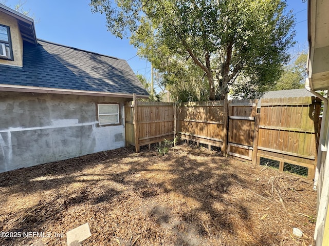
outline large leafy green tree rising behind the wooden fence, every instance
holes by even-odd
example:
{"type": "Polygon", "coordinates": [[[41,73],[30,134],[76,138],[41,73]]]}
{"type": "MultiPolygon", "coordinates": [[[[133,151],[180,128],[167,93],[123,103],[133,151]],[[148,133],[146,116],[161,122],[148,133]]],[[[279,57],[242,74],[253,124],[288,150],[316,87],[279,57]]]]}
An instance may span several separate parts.
{"type": "Polygon", "coordinates": [[[130,37],[160,71],[193,60],[209,99],[233,90],[262,92],[278,80],[293,44],[294,17],[281,0],[91,0],[107,27],[130,37]],[[287,12],[287,13],[286,13],[287,12]],[[242,81],[243,83],[236,83],[242,81]]]}

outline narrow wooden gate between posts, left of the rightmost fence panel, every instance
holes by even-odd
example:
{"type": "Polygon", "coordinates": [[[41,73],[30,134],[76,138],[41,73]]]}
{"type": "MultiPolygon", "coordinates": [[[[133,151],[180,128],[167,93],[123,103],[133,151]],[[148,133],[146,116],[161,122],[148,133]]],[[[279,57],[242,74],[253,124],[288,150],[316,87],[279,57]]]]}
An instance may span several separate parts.
{"type": "MultiPolygon", "coordinates": [[[[228,103],[227,153],[251,162],[253,159],[257,100],[228,103]]],[[[257,129],[256,129],[257,130],[257,129]]]]}

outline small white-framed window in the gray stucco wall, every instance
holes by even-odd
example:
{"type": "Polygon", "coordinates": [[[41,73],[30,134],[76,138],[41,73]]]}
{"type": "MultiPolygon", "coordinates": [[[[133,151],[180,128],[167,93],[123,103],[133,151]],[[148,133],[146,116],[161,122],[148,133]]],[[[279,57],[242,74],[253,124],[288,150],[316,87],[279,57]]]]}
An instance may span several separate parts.
{"type": "Polygon", "coordinates": [[[118,104],[98,104],[98,124],[100,126],[120,123],[118,104]]]}

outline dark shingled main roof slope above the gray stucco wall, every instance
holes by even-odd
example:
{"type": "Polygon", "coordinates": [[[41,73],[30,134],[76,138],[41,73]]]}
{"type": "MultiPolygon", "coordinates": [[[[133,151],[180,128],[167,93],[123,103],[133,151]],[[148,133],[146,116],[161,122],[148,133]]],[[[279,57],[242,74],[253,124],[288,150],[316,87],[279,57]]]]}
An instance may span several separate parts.
{"type": "Polygon", "coordinates": [[[126,60],[40,39],[24,42],[23,68],[0,65],[0,84],[148,95],[126,60]]]}

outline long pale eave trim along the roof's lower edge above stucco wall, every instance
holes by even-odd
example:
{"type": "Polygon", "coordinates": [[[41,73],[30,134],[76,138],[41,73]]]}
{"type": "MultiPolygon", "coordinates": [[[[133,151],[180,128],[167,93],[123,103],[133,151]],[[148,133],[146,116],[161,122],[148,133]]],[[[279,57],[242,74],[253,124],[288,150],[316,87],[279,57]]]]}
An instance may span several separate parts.
{"type": "MultiPolygon", "coordinates": [[[[125,93],[100,92],[100,91],[80,91],[80,90],[34,87],[34,86],[16,86],[16,85],[0,85],[0,91],[133,98],[133,94],[125,94],[125,93]]],[[[137,97],[138,98],[149,98],[148,95],[138,95],[138,94],[137,94],[137,97]]]]}

